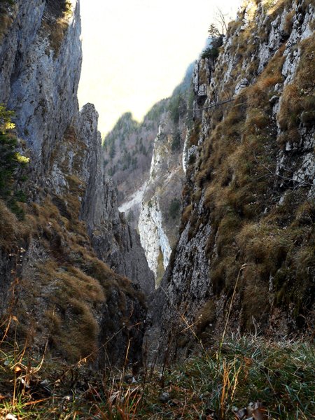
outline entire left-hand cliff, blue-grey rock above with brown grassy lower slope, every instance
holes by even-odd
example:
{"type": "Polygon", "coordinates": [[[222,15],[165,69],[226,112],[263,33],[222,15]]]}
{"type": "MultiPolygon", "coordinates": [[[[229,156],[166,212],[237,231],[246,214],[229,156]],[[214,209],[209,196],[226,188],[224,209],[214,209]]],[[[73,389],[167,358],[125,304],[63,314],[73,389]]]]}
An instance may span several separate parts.
{"type": "Polygon", "coordinates": [[[15,111],[30,165],[25,220],[1,202],[1,314],[18,318],[29,343],[48,340],[72,360],[99,348],[123,360],[129,339],[137,360],[142,330],[132,325],[144,319],[139,290],[151,292],[153,275],[104,175],[97,112],[78,111],[79,2],[3,7],[0,102],[15,111]]]}

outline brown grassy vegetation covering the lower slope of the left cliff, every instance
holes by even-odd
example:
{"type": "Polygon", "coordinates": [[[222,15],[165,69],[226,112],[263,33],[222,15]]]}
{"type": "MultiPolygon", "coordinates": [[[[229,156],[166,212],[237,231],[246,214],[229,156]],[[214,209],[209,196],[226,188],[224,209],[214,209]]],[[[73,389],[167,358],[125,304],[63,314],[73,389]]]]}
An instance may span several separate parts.
{"type": "MultiPolygon", "coordinates": [[[[75,136],[73,130],[66,131],[65,148],[75,136]]],[[[79,158],[80,153],[73,162],[78,164],[79,158]]],[[[20,204],[23,221],[0,200],[0,252],[9,255],[12,267],[9,298],[1,316],[3,325],[10,325],[13,317],[17,320],[8,328],[9,336],[15,335],[27,348],[47,346],[48,353],[74,362],[88,355],[99,357],[99,349],[107,348],[102,339],[106,342],[108,335],[132,330],[134,312],[146,309],[144,297],[130,280],[115,274],[94,254],[85,222],[80,220],[85,183],[75,169],[69,175],[69,162],[59,165],[65,176],[62,191],[46,195],[41,190],[38,202],[20,204]],[[131,310],[132,304],[138,309],[131,310]],[[101,339],[103,316],[111,318],[111,328],[102,332],[101,339]]]]}

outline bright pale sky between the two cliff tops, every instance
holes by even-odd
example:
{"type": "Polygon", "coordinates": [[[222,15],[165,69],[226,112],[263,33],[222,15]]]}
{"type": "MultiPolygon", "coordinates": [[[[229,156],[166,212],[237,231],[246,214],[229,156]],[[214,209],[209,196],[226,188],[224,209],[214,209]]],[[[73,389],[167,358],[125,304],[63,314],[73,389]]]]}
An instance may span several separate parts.
{"type": "Polygon", "coordinates": [[[79,102],[92,102],[105,134],[122,113],[141,120],[172,94],[199,55],[219,6],[238,0],[80,0],[83,68],[79,102]]]}

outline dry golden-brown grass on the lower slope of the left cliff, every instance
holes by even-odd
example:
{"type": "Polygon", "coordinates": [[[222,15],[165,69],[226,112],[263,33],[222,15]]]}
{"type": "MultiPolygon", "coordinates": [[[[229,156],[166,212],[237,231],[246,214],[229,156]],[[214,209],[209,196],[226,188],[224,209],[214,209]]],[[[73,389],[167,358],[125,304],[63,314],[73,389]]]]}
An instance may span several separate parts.
{"type": "Polygon", "coordinates": [[[18,337],[29,344],[48,339],[51,351],[74,361],[97,350],[99,314],[113,290],[123,314],[127,297],[141,307],[145,303],[130,280],[115,274],[94,255],[86,225],[79,220],[78,197],[85,185],[74,174],[66,180],[64,196],[23,205],[23,222],[16,221],[0,202],[0,246],[10,252],[21,245],[21,239],[25,248],[35,246],[34,262],[19,279],[20,298],[14,307],[20,321],[18,337]]]}

